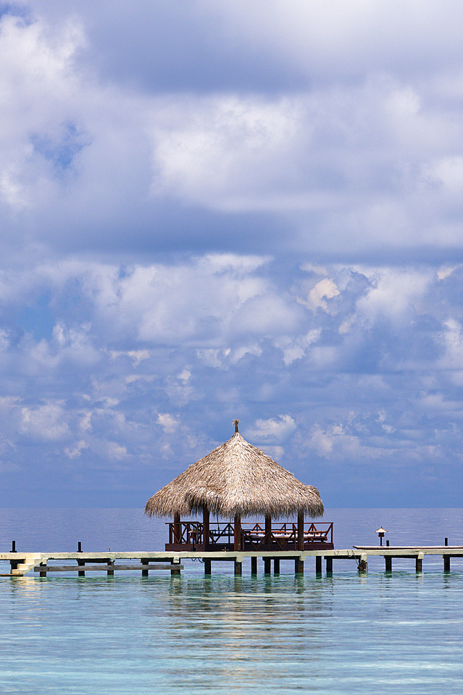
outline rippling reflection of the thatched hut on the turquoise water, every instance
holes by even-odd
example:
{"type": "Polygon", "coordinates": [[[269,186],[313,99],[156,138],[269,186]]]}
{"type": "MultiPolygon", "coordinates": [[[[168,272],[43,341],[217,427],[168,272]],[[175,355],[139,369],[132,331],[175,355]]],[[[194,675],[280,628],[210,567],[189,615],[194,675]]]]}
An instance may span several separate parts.
{"type": "Polygon", "coordinates": [[[259,689],[268,669],[282,687],[304,679],[307,668],[315,676],[325,638],[319,621],[330,620],[332,605],[332,580],[303,575],[171,582],[167,616],[179,638],[181,626],[185,647],[176,678],[204,689],[227,682],[234,692],[243,684],[259,689]]]}

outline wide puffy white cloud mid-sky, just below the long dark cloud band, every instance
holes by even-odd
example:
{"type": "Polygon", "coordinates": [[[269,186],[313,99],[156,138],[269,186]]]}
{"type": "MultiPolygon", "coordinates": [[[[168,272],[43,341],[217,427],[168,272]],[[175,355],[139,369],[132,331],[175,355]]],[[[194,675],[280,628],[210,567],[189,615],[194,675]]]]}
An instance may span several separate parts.
{"type": "MultiPolygon", "coordinates": [[[[201,350],[213,350],[225,336],[280,334],[294,328],[301,316],[296,302],[253,272],[267,259],[248,263],[228,254],[224,263],[218,261],[217,256],[204,256],[176,267],[138,265],[122,278],[110,265],[69,270],[77,272],[92,300],[93,325],[104,325],[115,335],[135,332],[140,341],[168,344],[201,341],[201,350]]],[[[137,359],[148,355],[140,350],[127,354],[137,359]]]]}

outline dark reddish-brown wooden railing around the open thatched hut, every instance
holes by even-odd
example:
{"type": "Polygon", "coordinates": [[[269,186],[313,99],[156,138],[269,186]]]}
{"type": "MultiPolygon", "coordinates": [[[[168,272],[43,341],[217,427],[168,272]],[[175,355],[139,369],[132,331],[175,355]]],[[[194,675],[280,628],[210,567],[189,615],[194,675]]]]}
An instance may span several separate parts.
{"type": "MultiPolygon", "coordinates": [[[[203,545],[203,523],[201,521],[168,522],[169,544],[178,543],[186,546],[203,545]]],[[[332,522],[319,521],[304,524],[304,546],[311,543],[332,544],[332,522]]],[[[241,528],[241,548],[249,550],[265,550],[269,545],[278,550],[295,550],[297,548],[297,522],[286,521],[271,525],[271,533],[267,538],[265,526],[260,523],[245,523],[241,528]]],[[[233,545],[235,529],[233,523],[217,523],[210,526],[208,545],[233,545]]]]}

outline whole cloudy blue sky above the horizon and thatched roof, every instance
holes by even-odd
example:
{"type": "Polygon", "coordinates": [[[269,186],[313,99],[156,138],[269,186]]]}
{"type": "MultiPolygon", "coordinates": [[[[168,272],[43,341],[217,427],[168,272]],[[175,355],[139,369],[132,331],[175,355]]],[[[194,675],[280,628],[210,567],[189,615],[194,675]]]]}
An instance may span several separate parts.
{"type": "Polygon", "coordinates": [[[0,505],[243,436],[462,507],[459,0],[0,3],[0,505]]]}

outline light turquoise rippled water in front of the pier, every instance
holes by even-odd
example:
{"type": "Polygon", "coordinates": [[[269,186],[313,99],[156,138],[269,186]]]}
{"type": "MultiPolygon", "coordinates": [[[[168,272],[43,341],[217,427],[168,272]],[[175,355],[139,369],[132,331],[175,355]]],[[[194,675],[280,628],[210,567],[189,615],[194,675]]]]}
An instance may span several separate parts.
{"type": "Polygon", "coordinates": [[[6,693],[434,692],[444,673],[457,692],[463,659],[461,573],[24,578],[0,600],[6,693]]]}

